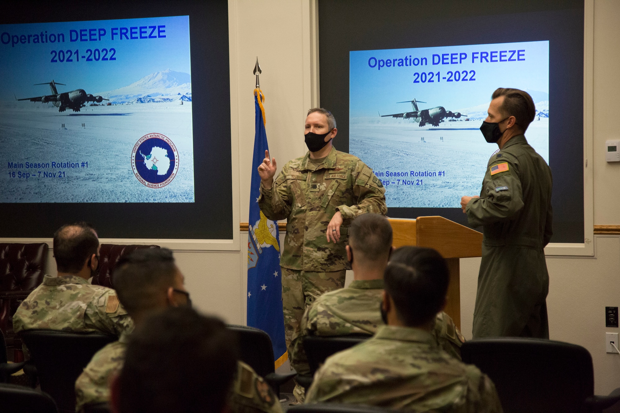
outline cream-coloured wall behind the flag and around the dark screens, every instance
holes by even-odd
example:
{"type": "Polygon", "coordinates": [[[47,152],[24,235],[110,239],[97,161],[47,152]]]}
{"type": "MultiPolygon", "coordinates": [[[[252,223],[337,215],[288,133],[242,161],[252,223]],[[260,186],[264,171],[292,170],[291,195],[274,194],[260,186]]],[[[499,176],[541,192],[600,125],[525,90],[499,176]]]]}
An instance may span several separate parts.
{"type": "MultiPolygon", "coordinates": [[[[239,151],[239,221],[247,221],[254,145],[252,69],[259,56],[260,86],[267,100],[267,138],[283,166],[303,156],[303,121],[317,101],[312,71],[315,33],[311,0],[230,0],[232,138],[239,151]]],[[[620,224],[620,162],[604,161],[604,141],[620,138],[620,7],[617,0],[595,0],[594,18],[594,215],[595,224],[620,224]]],[[[576,45],[575,47],[581,47],[576,45]]],[[[235,171],[234,171],[235,172],[235,171]]],[[[234,174],[236,175],[236,174],[234,174]]],[[[192,300],[198,308],[231,323],[244,324],[246,237],[239,251],[175,251],[192,300]]],[[[461,260],[461,324],[471,337],[480,259],[461,260]]],[[[595,391],[620,387],[620,355],[605,353],[604,307],[620,306],[620,239],[596,236],[595,257],[548,257],[547,306],[551,338],[586,347],[595,365],[595,391]]],[[[50,254],[50,272],[55,265],[50,254]]]]}

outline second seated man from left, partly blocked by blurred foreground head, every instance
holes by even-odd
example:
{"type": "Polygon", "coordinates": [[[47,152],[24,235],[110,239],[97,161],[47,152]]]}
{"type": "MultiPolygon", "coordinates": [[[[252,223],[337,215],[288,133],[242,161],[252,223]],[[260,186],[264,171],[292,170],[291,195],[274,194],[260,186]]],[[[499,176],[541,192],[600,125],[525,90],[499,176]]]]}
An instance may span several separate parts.
{"type": "MultiPolygon", "coordinates": [[[[190,305],[184,276],[175,265],[172,252],[166,248],[138,249],[123,255],[113,280],[118,298],[136,326],[143,324],[151,313],[190,305]]],[[[108,401],[108,381],[123,366],[127,342],[128,335],[123,334],[117,342],[108,344],[92,357],[76,381],[77,411],[86,404],[108,401]]],[[[180,342],[174,343],[174,349],[181,354],[185,351],[180,342]]],[[[191,359],[186,358],[184,363],[191,363],[191,359]]],[[[233,412],[281,412],[271,388],[250,366],[239,362],[237,370],[230,403],[233,412]]],[[[164,370],[161,373],[166,374],[164,370]]]]}

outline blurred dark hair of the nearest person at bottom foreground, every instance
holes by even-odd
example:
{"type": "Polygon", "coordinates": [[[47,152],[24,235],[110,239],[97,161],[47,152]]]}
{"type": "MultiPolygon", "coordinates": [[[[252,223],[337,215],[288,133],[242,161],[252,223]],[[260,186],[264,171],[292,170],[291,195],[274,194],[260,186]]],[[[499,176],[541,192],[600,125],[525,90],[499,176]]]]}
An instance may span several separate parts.
{"type": "Polygon", "coordinates": [[[146,318],[130,335],[120,413],[221,412],[237,371],[236,336],[188,306],[146,318]]]}

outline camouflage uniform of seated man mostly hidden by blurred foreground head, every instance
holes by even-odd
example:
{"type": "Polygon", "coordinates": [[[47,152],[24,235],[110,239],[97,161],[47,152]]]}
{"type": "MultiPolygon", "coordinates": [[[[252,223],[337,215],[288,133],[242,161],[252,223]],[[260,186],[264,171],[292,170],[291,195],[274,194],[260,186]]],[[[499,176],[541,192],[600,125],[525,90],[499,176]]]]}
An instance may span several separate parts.
{"type": "MultiPolygon", "coordinates": [[[[110,397],[108,380],[120,371],[125,362],[127,336],[106,345],[92,360],[76,381],[76,411],[86,404],[107,402],[110,397]]],[[[281,413],[282,408],[269,384],[243,362],[237,363],[237,375],[232,384],[232,413],[281,413]]]]}

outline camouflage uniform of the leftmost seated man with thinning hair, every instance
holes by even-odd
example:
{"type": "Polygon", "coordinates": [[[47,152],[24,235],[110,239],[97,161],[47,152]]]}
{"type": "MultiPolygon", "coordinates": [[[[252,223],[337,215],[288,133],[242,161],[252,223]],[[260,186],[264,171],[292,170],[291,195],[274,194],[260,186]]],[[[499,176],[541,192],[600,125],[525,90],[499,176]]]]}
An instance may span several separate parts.
{"type": "Polygon", "coordinates": [[[15,333],[49,329],[118,336],[133,330],[133,320],[112,288],[91,285],[74,275],[46,275],[15,311],[13,329],[15,333]]]}

